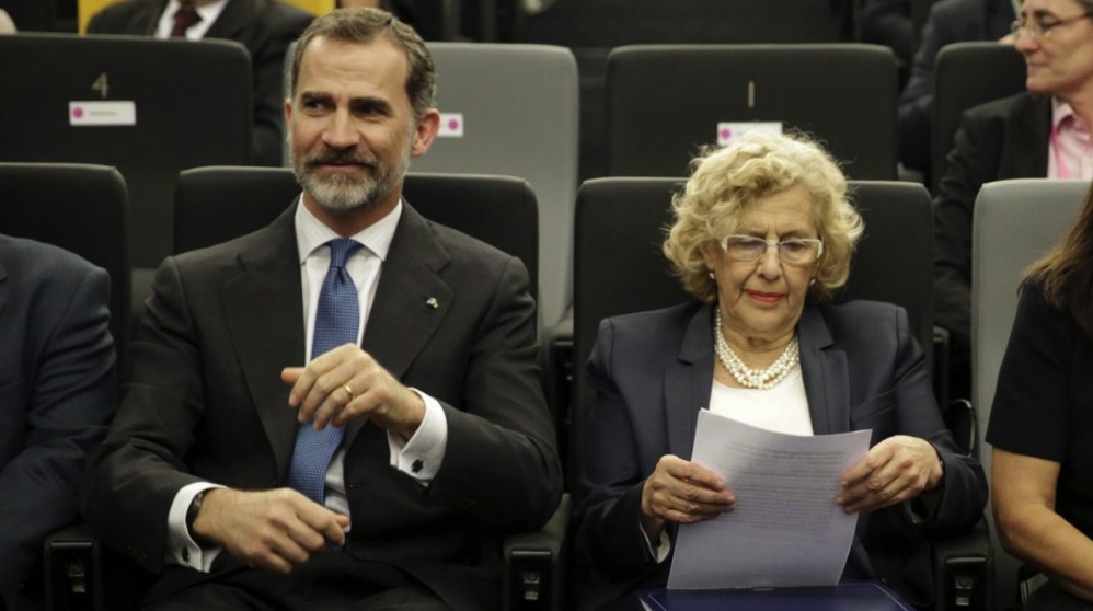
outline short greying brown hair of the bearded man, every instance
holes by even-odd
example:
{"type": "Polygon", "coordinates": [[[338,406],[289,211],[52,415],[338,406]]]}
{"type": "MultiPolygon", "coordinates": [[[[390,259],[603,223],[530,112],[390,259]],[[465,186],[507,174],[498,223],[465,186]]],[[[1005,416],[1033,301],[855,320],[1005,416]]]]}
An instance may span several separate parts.
{"type": "Polygon", "coordinates": [[[421,118],[435,106],[436,66],[433,64],[433,56],[425,46],[425,41],[413,27],[381,9],[335,9],[312,21],[297,39],[292,53],[292,97],[296,97],[296,83],[300,79],[300,60],[311,41],[323,37],[340,43],[368,44],[379,36],[387,36],[406,54],[410,62],[406,95],[413,106],[414,118],[421,118]]]}

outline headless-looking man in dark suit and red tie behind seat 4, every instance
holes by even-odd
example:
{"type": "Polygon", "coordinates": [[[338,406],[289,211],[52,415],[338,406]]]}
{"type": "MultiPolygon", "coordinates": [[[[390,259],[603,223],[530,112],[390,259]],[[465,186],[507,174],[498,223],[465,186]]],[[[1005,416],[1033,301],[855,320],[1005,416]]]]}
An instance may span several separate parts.
{"type": "MultiPolygon", "coordinates": [[[[226,38],[251,54],[256,165],[280,165],[285,141],[283,107],[285,54],[313,15],[278,0],[126,0],[103,9],[88,23],[89,34],[136,34],[168,38],[226,38]],[[184,32],[175,14],[192,8],[200,18],[184,32]]],[[[164,67],[166,70],[168,67],[164,67]]]]}

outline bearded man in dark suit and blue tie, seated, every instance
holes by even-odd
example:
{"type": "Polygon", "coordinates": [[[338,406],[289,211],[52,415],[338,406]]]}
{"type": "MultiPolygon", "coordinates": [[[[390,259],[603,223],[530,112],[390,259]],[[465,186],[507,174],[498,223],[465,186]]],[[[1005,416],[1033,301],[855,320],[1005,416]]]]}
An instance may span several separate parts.
{"type": "Polygon", "coordinates": [[[160,574],[149,608],[496,609],[499,538],[556,507],[524,265],[401,197],[434,90],[389,13],[319,18],[287,107],[302,196],[157,273],[83,503],[160,574]],[[343,311],[356,339],[322,354],[327,283],[359,319],[343,311]],[[338,430],[322,466],[303,457],[338,430]]]}

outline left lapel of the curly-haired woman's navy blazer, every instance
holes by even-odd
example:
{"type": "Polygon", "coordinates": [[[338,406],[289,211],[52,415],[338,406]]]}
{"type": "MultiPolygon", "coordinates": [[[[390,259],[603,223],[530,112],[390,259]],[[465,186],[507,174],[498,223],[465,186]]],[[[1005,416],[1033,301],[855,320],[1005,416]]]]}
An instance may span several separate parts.
{"type": "Polygon", "coordinates": [[[706,304],[691,318],[676,362],[665,371],[664,404],[668,451],[690,459],[699,410],[710,407],[713,387],[713,307],[706,304]]]}

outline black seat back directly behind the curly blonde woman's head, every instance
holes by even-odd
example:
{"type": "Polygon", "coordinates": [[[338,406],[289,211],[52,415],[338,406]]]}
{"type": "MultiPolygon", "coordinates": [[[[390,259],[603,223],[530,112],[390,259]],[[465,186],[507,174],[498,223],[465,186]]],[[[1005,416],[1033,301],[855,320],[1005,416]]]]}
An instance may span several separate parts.
{"type": "Polygon", "coordinates": [[[896,81],[895,55],[874,45],[615,48],[607,64],[607,172],[687,176],[701,147],[780,127],[812,134],[852,178],[894,180],[896,81]]]}

